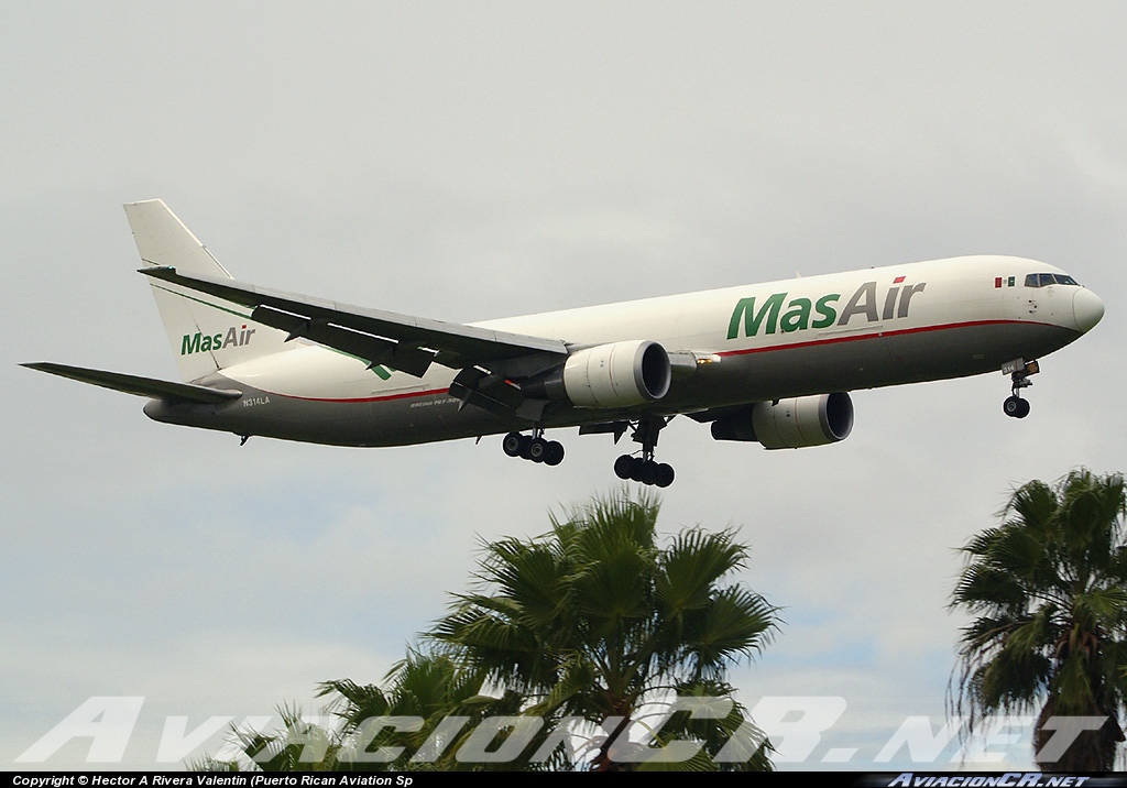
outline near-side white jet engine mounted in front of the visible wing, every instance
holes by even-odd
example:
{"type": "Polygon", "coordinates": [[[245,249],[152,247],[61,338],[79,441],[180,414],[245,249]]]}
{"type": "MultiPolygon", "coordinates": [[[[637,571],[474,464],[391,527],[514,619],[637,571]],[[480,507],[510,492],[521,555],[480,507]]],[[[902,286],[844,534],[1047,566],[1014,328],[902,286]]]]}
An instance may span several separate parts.
{"type": "Polygon", "coordinates": [[[664,347],[648,339],[631,339],[573,353],[553,381],[557,384],[545,388],[557,398],[565,395],[576,407],[625,408],[662,399],[672,378],[664,347]]]}

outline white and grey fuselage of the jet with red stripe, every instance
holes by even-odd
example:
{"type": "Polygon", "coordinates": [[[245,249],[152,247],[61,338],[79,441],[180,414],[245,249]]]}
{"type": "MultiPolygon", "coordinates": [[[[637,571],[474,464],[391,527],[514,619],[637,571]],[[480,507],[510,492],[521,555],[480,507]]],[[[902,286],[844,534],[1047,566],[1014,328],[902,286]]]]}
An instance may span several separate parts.
{"type": "MultiPolygon", "coordinates": [[[[474,324],[561,339],[569,348],[646,339],[695,361],[668,395],[638,408],[564,405],[544,426],[669,415],[997,371],[1091,328],[1102,304],[1077,285],[1026,285],[1063,273],[1002,256],[810,276],[474,324]]],[[[269,331],[263,327],[260,330],[269,331]]],[[[160,420],[348,445],[425,443],[527,426],[447,393],[456,370],[423,378],[294,340],[203,382],[245,396],[220,406],[153,401],[160,420]]]]}

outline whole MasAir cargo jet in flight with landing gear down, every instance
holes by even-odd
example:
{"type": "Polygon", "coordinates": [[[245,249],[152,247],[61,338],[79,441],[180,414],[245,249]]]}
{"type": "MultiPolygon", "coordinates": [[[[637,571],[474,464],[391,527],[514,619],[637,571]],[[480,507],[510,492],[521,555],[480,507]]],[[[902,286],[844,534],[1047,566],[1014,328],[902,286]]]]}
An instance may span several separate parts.
{"type": "Polygon", "coordinates": [[[1039,358],[1094,327],[1103,302],[1072,276],[980,255],[453,324],[234,280],[160,200],[125,214],[183,382],[34,370],[150,398],[150,418],[348,446],[502,434],[547,466],[547,430],[629,431],[615,475],[667,487],[660,431],[685,415],[719,441],[835,443],[849,392],[1002,371],[1008,416],[1039,358]]]}

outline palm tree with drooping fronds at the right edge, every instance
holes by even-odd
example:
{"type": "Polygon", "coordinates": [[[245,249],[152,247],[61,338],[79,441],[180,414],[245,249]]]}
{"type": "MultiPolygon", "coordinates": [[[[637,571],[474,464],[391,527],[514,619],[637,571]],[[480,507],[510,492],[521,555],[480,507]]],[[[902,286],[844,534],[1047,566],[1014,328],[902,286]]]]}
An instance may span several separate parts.
{"type": "Polygon", "coordinates": [[[1125,513],[1122,476],[1075,470],[1015,490],[1002,524],[962,548],[951,608],[978,618],[962,630],[955,710],[974,729],[992,714],[1039,708],[1033,747],[1046,771],[1108,771],[1124,741],[1125,513]],[[1047,724],[1067,716],[1106,723],[1051,760],[1047,724]]]}

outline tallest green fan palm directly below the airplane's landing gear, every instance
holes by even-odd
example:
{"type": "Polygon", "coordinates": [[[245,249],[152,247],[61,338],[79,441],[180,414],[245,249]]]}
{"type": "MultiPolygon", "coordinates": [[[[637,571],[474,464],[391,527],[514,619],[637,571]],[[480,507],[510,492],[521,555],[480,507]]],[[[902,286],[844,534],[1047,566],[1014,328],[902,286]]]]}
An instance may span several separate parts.
{"type": "MultiPolygon", "coordinates": [[[[687,529],[663,548],[658,510],[656,497],[623,493],[551,516],[543,537],[487,544],[478,587],[456,596],[429,634],[465,669],[530,699],[529,715],[611,720],[595,770],[635,769],[658,752],[623,762],[622,742],[612,745],[663,693],[730,700],[727,669],[758,653],[778,628],[775,608],[726,583],[747,558],[731,531],[687,529]]],[[[658,743],[672,735],[702,745],[682,768],[771,768],[738,703],[721,719],[674,715],[658,743]],[[752,740],[739,762],[706,756],[731,735],[752,740]]]]}

